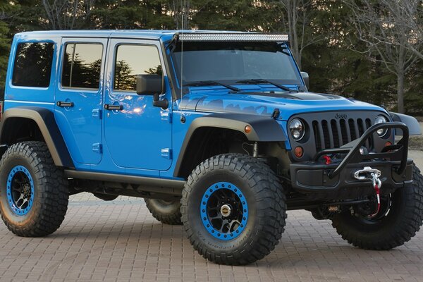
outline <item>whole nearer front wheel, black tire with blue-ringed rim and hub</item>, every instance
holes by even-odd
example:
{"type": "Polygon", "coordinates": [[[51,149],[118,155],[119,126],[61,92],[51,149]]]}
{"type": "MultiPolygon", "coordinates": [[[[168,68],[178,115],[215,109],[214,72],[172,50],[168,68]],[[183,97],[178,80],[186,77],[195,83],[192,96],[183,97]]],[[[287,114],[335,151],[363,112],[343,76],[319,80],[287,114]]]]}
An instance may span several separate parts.
{"type": "Polygon", "coordinates": [[[200,255],[218,264],[250,264],[274,250],[281,238],[286,197],[262,161],[221,154],[192,171],[180,210],[200,255]]]}

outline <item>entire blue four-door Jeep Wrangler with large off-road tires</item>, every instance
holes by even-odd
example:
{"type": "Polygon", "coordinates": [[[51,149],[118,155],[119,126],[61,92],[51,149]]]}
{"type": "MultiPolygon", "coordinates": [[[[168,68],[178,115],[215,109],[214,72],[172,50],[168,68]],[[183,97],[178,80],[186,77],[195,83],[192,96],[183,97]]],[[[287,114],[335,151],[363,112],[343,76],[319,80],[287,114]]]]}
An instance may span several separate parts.
{"type": "Polygon", "coordinates": [[[308,92],[287,35],[25,32],[6,79],[0,212],[16,235],[56,231],[78,192],[145,198],[219,264],[268,255],[292,209],[370,250],[422,225],[415,118],[308,92]]]}

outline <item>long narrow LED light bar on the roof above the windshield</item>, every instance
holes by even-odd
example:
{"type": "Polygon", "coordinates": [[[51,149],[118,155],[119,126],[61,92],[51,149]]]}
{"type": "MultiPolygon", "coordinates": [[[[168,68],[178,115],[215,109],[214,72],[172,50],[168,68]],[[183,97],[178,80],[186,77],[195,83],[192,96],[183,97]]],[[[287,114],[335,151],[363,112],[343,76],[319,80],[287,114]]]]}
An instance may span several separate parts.
{"type": "Polygon", "coordinates": [[[253,32],[188,32],[178,33],[178,40],[187,42],[288,42],[288,35],[284,33],[253,33],[253,32]]]}

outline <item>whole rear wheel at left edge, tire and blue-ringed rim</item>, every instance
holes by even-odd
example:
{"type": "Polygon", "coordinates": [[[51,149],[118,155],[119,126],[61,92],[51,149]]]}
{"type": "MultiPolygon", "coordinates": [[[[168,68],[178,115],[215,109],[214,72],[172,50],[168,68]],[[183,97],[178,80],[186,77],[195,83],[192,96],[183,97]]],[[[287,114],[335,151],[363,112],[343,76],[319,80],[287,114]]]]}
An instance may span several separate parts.
{"type": "Polygon", "coordinates": [[[38,237],[56,231],[68,207],[68,185],[54,165],[47,145],[21,142],[0,161],[0,214],[19,236],[38,237]]]}

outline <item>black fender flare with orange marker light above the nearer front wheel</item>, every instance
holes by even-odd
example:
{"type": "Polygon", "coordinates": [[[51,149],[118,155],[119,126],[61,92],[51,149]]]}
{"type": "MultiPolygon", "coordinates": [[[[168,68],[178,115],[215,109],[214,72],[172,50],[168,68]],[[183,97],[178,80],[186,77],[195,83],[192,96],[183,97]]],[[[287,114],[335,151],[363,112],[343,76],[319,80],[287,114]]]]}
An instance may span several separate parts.
{"type": "Polygon", "coordinates": [[[250,114],[210,114],[195,118],[185,135],[178,160],[176,161],[173,176],[178,176],[180,166],[185,157],[186,149],[195,130],[198,128],[224,128],[239,131],[252,142],[285,142],[288,140],[281,125],[269,116],[257,116],[250,114]],[[245,133],[245,126],[250,125],[251,132],[245,133]]]}

